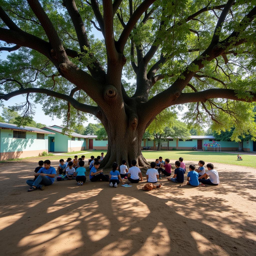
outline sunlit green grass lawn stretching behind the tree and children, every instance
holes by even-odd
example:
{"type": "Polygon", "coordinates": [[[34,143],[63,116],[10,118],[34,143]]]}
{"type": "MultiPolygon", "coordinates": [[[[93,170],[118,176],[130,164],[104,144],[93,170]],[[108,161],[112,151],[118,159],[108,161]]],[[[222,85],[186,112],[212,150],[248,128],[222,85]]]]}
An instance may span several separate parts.
{"type": "MultiPolygon", "coordinates": [[[[35,157],[25,157],[25,158],[18,158],[13,159],[12,161],[39,161],[39,160],[59,160],[63,158],[65,161],[68,157],[74,158],[74,155],[77,155],[78,157],[81,157],[81,155],[85,155],[86,160],[90,158],[91,155],[97,157],[100,155],[100,153],[103,152],[104,155],[106,155],[106,150],[96,150],[96,151],[76,151],[76,152],[70,152],[65,153],[69,156],[61,156],[61,155],[55,155],[55,156],[35,156],[35,157]],[[86,152],[86,153],[85,153],[86,152]]],[[[205,163],[221,163],[221,164],[232,164],[232,165],[238,165],[238,166],[248,166],[248,167],[254,167],[256,168],[256,156],[252,155],[243,155],[241,152],[240,155],[242,155],[243,161],[237,161],[237,155],[231,154],[231,153],[216,153],[211,151],[142,151],[143,156],[146,159],[156,159],[159,156],[162,156],[163,159],[170,158],[170,162],[173,164],[174,160],[178,160],[179,157],[183,157],[186,161],[199,161],[203,160],[205,163]]],[[[1,161],[5,162],[5,161],[1,161]]]]}

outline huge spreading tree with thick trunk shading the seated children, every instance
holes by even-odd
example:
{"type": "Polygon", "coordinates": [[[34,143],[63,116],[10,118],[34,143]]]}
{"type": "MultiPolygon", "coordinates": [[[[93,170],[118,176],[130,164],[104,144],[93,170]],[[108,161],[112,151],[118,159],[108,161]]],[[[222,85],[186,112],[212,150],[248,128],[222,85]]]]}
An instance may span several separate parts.
{"type": "Polygon", "coordinates": [[[0,100],[25,94],[24,108],[32,98],[46,114],[66,111],[67,127],[94,115],[108,134],[102,166],[145,166],[143,134],[169,106],[187,104],[194,123],[209,116],[222,125],[216,111],[236,116],[230,103],[256,101],[255,1],[0,3],[0,50],[19,49],[1,61],[0,100]]]}

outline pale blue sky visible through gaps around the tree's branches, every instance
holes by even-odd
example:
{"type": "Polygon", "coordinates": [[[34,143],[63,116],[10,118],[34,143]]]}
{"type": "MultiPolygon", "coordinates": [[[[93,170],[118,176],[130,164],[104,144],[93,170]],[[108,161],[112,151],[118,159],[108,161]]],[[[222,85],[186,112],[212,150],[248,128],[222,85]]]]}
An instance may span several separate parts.
{"type": "MultiPolygon", "coordinates": [[[[98,31],[97,29],[95,29],[94,27],[92,28],[92,33],[94,34],[95,38],[103,39],[101,32],[98,31]]],[[[2,42],[2,41],[0,41],[0,42],[2,42]]],[[[2,42],[2,43],[4,43],[4,42],[2,42]]],[[[0,59],[2,59],[2,60],[6,59],[8,54],[10,54],[8,51],[0,52],[0,59]]],[[[136,82],[134,79],[127,80],[125,77],[123,77],[123,79],[125,79],[127,82],[131,82],[131,83],[136,82]]],[[[19,104],[19,103],[22,103],[25,101],[26,101],[26,95],[18,95],[18,96],[15,96],[15,97],[9,99],[8,101],[4,101],[3,104],[4,104],[4,107],[8,108],[8,106],[13,106],[15,104],[19,104]]],[[[54,117],[52,119],[51,117],[46,116],[44,114],[44,111],[42,110],[41,104],[35,104],[34,110],[35,110],[35,115],[34,115],[35,122],[46,124],[47,126],[54,125],[54,124],[56,124],[56,125],[62,124],[61,119],[58,119],[56,117],[54,117]]],[[[2,111],[3,111],[3,108],[0,107],[0,115],[2,115],[2,111]]],[[[180,114],[178,115],[179,120],[182,119],[182,113],[184,113],[185,111],[186,111],[186,108],[184,108],[184,110],[182,112],[180,112],[180,114]]],[[[97,120],[94,120],[92,117],[88,116],[87,118],[88,118],[88,120],[83,123],[84,126],[87,126],[89,123],[97,123],[97,120]]]]}

